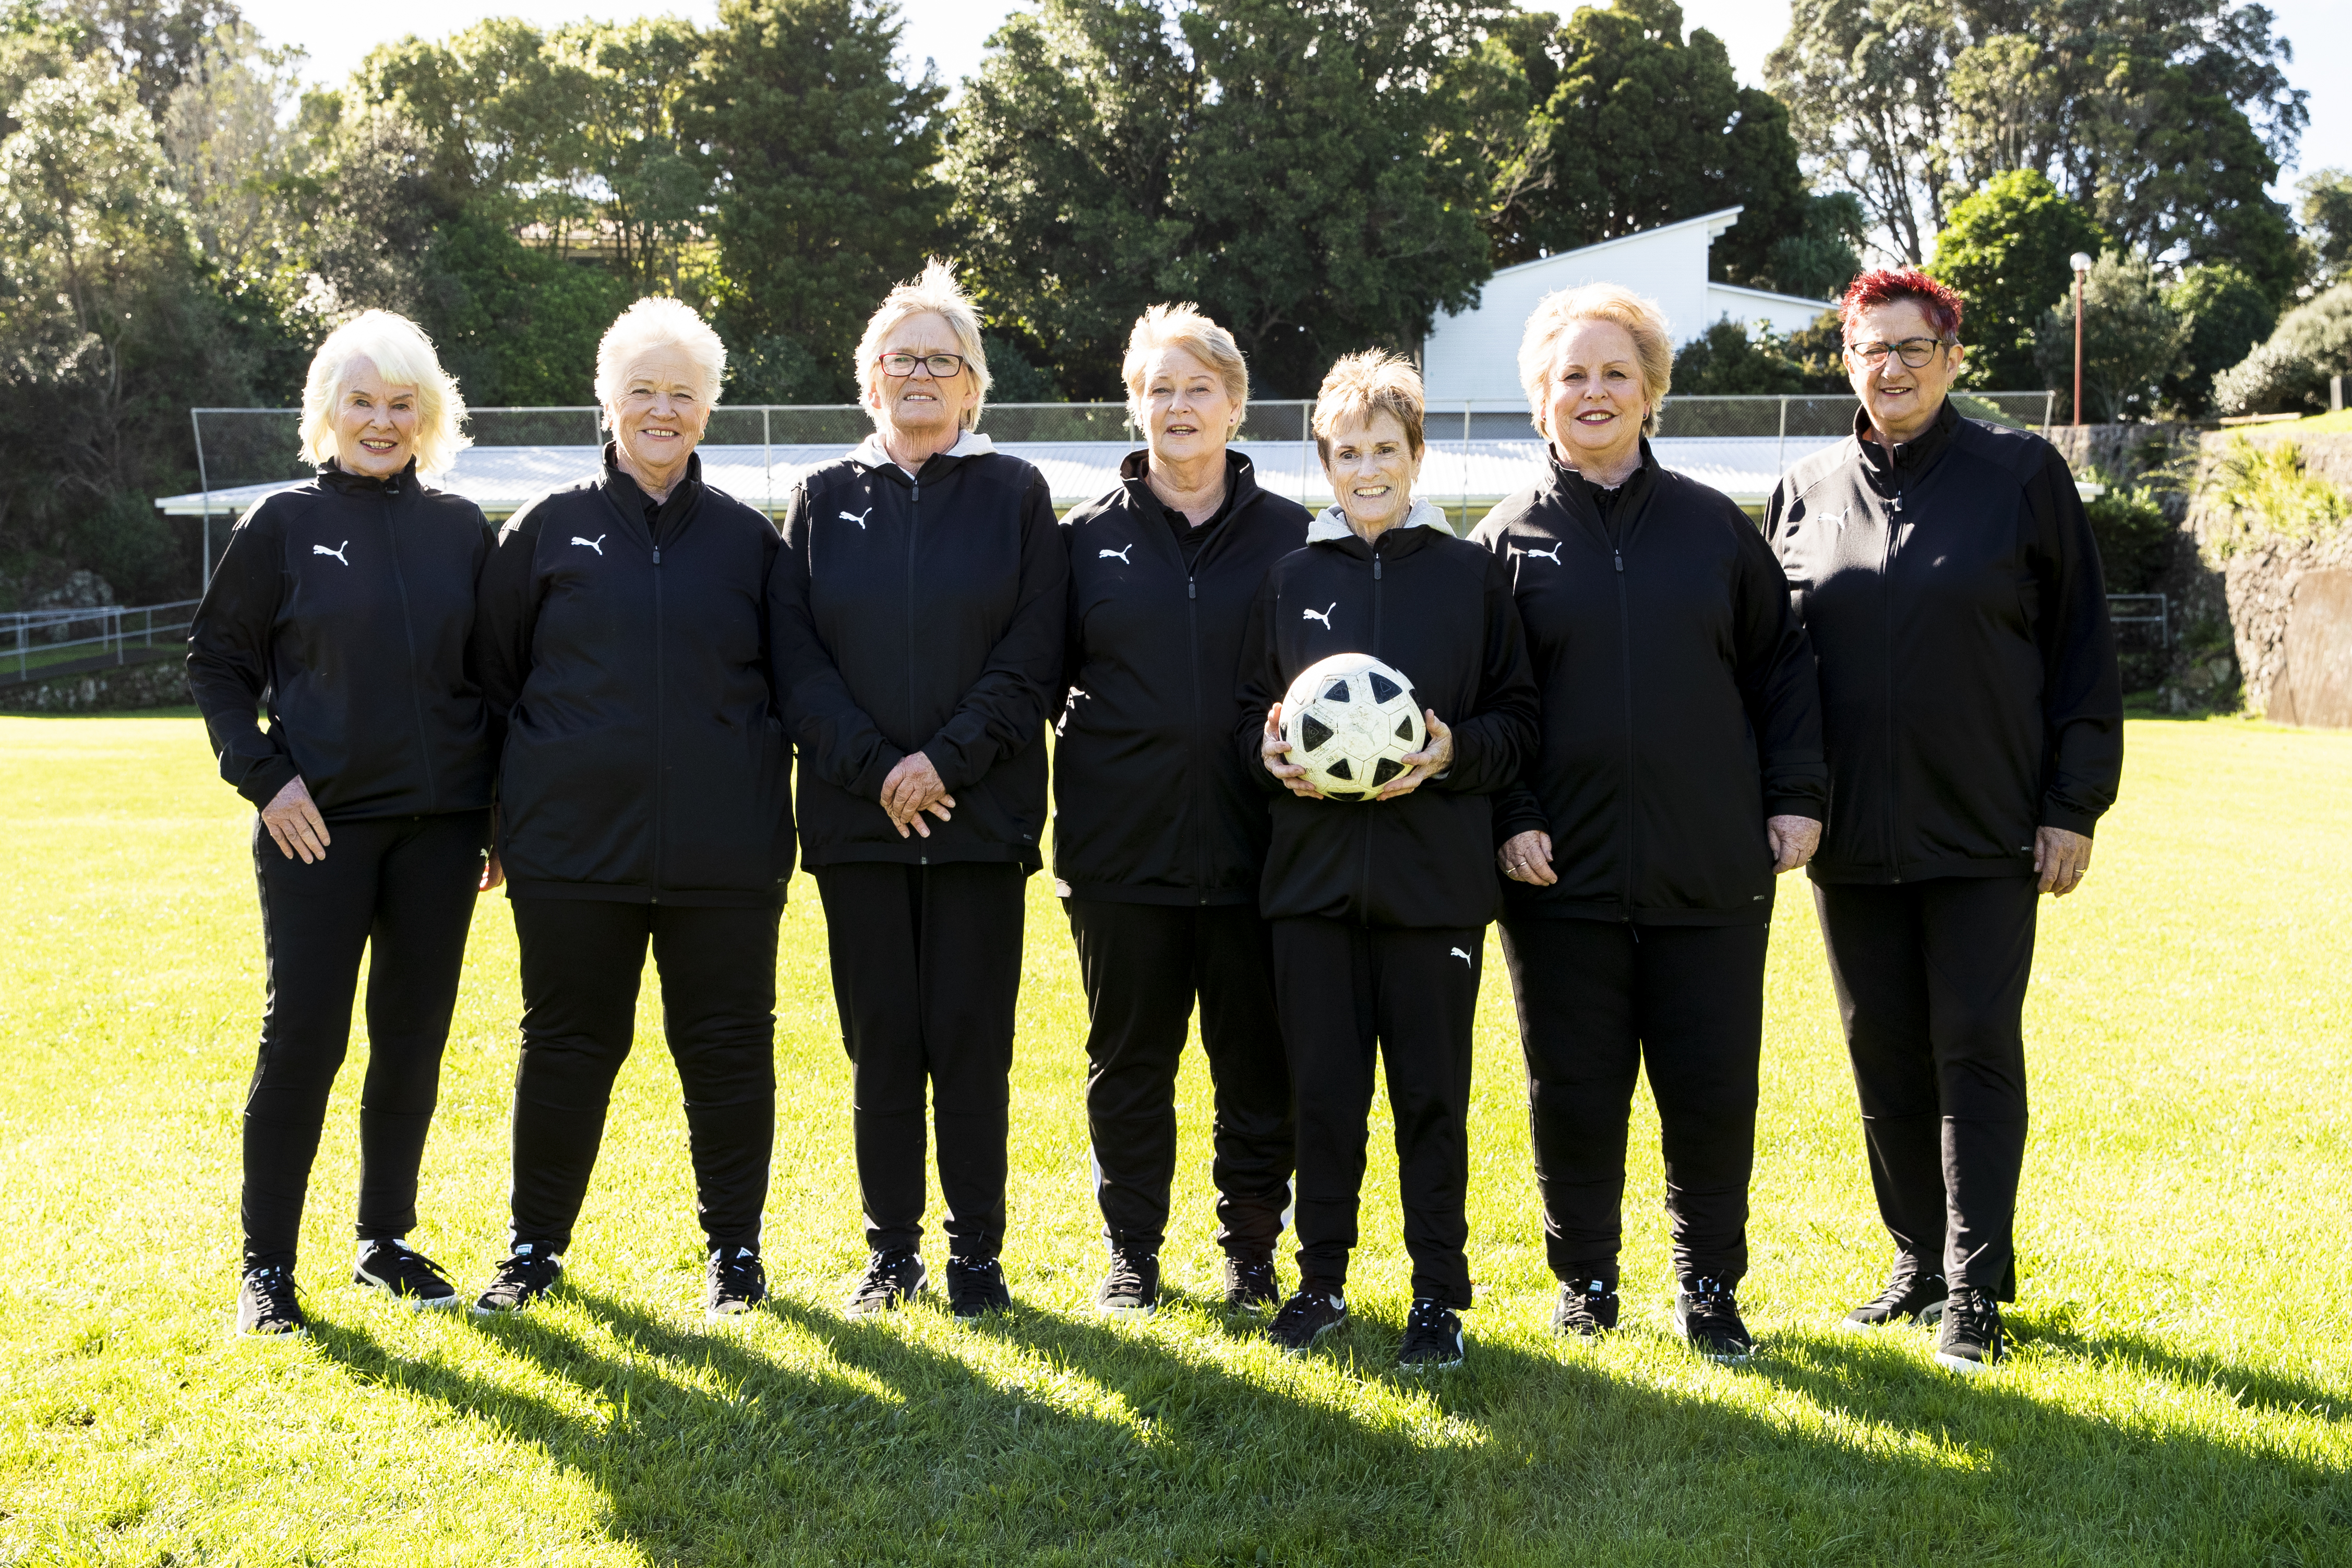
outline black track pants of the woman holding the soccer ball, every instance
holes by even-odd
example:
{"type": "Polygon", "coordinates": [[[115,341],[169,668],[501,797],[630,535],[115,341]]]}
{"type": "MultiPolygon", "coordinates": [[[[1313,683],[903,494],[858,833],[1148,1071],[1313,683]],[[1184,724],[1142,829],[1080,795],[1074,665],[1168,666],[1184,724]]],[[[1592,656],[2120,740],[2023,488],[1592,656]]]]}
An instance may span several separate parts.
{"type": "Polygon", "coordinates": [[[1397,1119],[1414,1295],[1470,1305],[1470,1020],[1482,931],[1277,919],[1275,994],[1298,1121],[1298,1284],[1341,1291],[1355,1251],[1374,1051],[1397,1119]]]}

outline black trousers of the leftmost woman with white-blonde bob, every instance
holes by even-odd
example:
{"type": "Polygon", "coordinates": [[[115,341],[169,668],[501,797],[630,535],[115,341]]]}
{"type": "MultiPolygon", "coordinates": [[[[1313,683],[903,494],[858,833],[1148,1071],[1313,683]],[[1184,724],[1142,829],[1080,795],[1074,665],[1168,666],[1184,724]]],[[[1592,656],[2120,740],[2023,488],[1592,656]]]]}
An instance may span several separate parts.
{"type": "Polygon", "coordinates": [[[482,882],[489,811],[327,823],[327,858],[287,858],[254,818],[268,1001],[245,1093],[245,1267],[292,1265],[327,1095],[367,964],[362,1241],[416,1225],[416,1166],[482,882]]]}

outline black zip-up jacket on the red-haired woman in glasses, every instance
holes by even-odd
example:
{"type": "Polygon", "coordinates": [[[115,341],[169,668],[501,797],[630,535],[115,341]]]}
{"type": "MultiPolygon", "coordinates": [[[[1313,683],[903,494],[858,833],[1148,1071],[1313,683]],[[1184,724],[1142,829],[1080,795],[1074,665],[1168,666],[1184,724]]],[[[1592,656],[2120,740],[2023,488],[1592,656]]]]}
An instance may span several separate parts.
{"type": "Polygon", "coordinates": [[[1856,435],[1766,508],[1820,661],[1830,832],[1816,882],[2023,877],[2124,771],[2098,545],[2065,458],[1945,402],[1893,458],[1856,435]]]}

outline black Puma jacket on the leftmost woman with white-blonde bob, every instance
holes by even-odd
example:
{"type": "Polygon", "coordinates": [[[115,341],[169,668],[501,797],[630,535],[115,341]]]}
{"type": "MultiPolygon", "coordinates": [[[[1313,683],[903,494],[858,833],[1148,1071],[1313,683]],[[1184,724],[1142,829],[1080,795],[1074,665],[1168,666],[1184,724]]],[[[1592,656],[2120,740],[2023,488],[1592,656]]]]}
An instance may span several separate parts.
{"type": "Polygon", "coordinates": [[[482,508],[428,489],[414,463],[390,480],[327,463],[259,501],[188,628],[221,778],[266,806],[299,773],[329,823],[487,806],[466,642],[489,543],[482,508]]]}

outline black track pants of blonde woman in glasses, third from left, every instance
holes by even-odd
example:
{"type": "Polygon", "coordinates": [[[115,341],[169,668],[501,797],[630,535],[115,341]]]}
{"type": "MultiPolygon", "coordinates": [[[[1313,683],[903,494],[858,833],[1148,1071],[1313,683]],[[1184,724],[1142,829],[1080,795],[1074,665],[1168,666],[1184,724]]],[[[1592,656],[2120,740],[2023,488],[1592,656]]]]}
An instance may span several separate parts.
{"type": "Polygon", "coordinates": [[[1004,1119],[1021,999],[1018,865],[818,865],[833,1001],[849,1053],[866,1244],[922,1241],[924,1086],[948,1248],[1004,1246],[1004,1119]]]}

